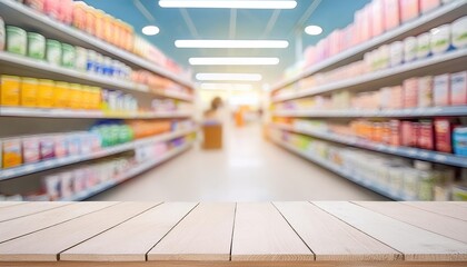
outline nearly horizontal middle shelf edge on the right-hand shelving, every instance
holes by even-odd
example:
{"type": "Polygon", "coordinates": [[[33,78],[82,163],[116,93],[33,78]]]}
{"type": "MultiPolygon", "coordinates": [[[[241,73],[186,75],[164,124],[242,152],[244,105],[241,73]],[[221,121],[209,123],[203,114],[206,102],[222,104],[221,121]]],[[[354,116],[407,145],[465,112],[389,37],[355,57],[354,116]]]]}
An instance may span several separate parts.
{"type": "Polygon", "coordinates": [[[436,116],[467,116],[467,107],[436,107],[394,110],[276,110],[277,117],[308,118],[420,118],[436,116]]]}

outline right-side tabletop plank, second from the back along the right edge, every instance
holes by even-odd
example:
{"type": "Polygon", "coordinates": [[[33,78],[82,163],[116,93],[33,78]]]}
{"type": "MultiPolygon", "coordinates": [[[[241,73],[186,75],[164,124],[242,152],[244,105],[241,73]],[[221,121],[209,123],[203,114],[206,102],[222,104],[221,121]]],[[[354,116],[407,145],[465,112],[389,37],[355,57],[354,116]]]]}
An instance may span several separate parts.
{"type": "Polygon", "coordinates": [[[467,221],[389,201],[358,201],[364,208],[467,244],[467,221]]]}

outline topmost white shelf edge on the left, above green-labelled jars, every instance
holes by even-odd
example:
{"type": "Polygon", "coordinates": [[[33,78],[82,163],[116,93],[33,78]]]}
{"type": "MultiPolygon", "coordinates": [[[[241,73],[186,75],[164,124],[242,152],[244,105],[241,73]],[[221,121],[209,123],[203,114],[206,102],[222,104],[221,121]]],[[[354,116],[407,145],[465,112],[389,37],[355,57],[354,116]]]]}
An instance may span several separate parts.
{"type": "MultiPolygon", "coordinates": [[[[120,48],[117,48],[110,43],[107,43],[102,40],[99,40],[98,38],[90,36],[86,32],[82,32],[80,30],[77,30],[70,26],[60,23],[59,21],[52,20],[46,14],[42,14],[40,12],[37,12],[36,10],[32,10],[19,2],[11,1],[11,0],[0,0],[0,7],[4,9],[6,11],[14,11],[18,12],[20,16],[18,16],[18,20],[28,18],[33,20],[36,23],[41,23],[42,26],[46,26],[49,28],[49,31],[57,31],[60,34],[66,34],[68,38],[73,38],[79,40],[80,42],[87,43],[89,48],[99,49],[102,52],[106,52],[107,55],[111,56],[113,59],[120,59],[128,62],[131,62],[135,66],[139,66],[141,68],[145,68],[147,70],[150,70],[152,72],[156,72],[160,76],[163,76],[170,80],[173,80],[178,83],[181,83],[183,86],[187,86],[189,88],[193,88],[193,85],[191,81],[187,79],[179,78],[176,73],[169,72],[163,69],[163,67],[157,66],[156,63],[152,63],[143,58],[140,58],[133,53],[130,53],[126,50],[122,50],[120,48]]],[[[8,21],[9,24],[14,24],[14,22],[8,21]]],[[[32,22],[31,22],[32,23],[32,22]]],[[[33,24],[32,24],[33,26],[33,24]]],[[[72,44],[72,43],[71,43],[72,44]]]]}

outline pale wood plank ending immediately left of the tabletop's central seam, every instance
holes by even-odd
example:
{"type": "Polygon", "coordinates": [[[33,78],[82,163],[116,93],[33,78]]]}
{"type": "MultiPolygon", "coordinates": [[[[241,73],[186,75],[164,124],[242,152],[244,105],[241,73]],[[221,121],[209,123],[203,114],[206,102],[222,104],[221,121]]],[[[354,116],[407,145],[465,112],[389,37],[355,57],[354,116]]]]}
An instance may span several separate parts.
{"type": "Polygon", "coordinates": [[[200,204],[148,253],[148,260],[230,260],[236,204],[200,204]]]}

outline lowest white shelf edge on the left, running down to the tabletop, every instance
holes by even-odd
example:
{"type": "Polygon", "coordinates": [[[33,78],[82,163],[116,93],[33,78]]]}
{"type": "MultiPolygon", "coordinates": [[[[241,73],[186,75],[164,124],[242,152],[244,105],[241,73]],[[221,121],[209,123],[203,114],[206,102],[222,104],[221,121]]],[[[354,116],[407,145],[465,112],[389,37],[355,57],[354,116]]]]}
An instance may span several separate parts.
{"type": "Polygon", "coordinates": [[[146,170],[148,170],[150,168],[153,168],[153,167],[156,167],[156,166],[158,166],[158,165],[178,156],[179,154],[189,149],[191,146],[192,146],[192,142],[188,142],[188,144],[183,145],[182,147],[176,148],[172,151],[167,152],[166,155],[163,155],[159,159],[145,162],[145,164],[142,164],[142,165],[140,165],[136,168],[130,169],[128,172],[117,177],[116,179],[105,181],[105,182],[99,184],[99,185],[97,185],[97,186],[95,186],[95,187],[92,187],[88,190],[85,190],[82,192],[78,192],[74,196],[71,196],[71,197],[68,197],[68,198],[61,198],[58,201],[80,201],[80,200],[90,198],[90,197],[92,197],[92,196],[95,196],[99,192],[106,191],[106,190],[108,190],[108,189],[128,180],[128,179],[133,178],[135,176],[137,176],[141,172],[145,172],[146,170]]]}

